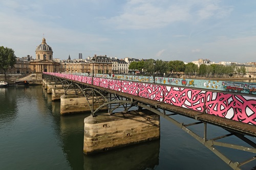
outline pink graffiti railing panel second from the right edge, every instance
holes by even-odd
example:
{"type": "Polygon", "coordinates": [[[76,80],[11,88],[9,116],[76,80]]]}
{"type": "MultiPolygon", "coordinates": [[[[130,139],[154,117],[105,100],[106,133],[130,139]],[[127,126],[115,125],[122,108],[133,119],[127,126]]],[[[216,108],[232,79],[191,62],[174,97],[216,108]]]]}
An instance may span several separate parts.
{"type": "Polygon", "coordinates": [[[164,103],[203,111],[205,91],[165,86],[164,103]]]}

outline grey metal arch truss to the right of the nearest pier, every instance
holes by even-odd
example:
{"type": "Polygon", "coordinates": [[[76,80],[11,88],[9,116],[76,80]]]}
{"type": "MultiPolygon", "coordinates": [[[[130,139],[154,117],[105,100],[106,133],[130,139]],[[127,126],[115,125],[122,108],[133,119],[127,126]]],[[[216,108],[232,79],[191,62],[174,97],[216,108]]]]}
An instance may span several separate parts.
{"type": "Polygon", "coordinates": [[[177,127],[181,128],[183,131],[185,131],[186,133],[188,133],[189,135],[191,135],[192,137],[197,139],[206,148],[208,148],[211,152],[216,154],[225,163],[227,163],[232,169],[241,170],[242,165],[245,165],[246,163],[249,163],[249,162],[256,159],[256,156],[253,156],[253,157],[251,157],[247,160],[244,160],[243,162],[233,162],[232,160],[227,158],[223,153],[221,153],[221,151],[219,151],[216,148],[216,147],[224,147],[224,148],[240,150],[240,151],[255,154],[256,153],[256,143],[253,142],[252,140],[248,139],[247,137],[245,137],[245,135],[243,135],[241,133],[234,132],[234,131],[227,130],[227,129],[223,128],[224,130],[226,130],[228,132],[228,134],[222,135],[222,136],[219,136],[219,137],[215,137],[215,138],[212,138],[212,139],[207,139],[207,133],[206,133],[207,132],[207,123],[206,122],[201,122],[200,120],[197,120],[197,122],[195,122],[195,123],[184,125],[184,123],[180,123],[180,122],[178,122],[177,120],[175,120],[174,118],[171,117],[173,115],[177,115],[178,113],[166,114],[165,110],[162,110],[162,112],[161,112],[158,109],[156,109],[155,107],[148,106],[146,104],[139,103],[139,102],[137,102],[136,105],[141,107],[141,108],[145,108],[147,110],[150,110],[150,111],[162,116],[163,118],[169,120],[169,122],[173,123],[177,127]],[[204,136],[203,137],[201,137],[200,135],[198,135],[195,132],[188,129],[188,127],[198,125],[198,124],[204,124],[204,129],[203,129],[204,136]],[[237,138],[241,139],[245,143],[251,145],[252,148],[237,145],[237,144],[231,144],[231,143],[224,143],[224,142],[216,141],[218,139],[222,139],[222,138],[229,137],[229,136],[236,136],[237,138]]]}

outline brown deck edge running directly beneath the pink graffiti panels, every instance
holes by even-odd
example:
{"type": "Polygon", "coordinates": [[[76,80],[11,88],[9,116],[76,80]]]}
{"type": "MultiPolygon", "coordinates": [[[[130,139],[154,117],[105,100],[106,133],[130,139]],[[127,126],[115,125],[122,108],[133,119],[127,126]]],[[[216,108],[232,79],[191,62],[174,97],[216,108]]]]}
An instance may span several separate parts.
{"type": "Polygon", "coordinates": [[[205,123],[213,124],[213,125],[222,127],[227,130],[232,130],[235,132],[240,132],[244,135],[256,137],[256,126],[254,126],[254,125],[248,125],[245,123],[237,122],[234,120],[230,120],[227,118],[223,118],[223,117],[219,117],[219,116],[215,116],[215,115],[211,115],[211,114],[203,114],[199,111],[194,111],[194,110],[182,108],[179,106],[174,106],[174,105],[170,105],[170,104],[166,104],[166,103],[162,103],[162,102],[158,102],[158,101],[153,101],[150,99],[142,98],[140,96],[122,93],[119,91],[106,89],[106,88],[99,87],[99,86],[94,86],[94,85],[90,85],[90,86],[92,86],[94,88],[98,88],[98,89],[106,91],[106,92],[110,92],[112,94],[116,94],[118,96],[123,96],[124,98],[127,98],[127,99],[133,99],[133,101],[138,101],[138,102],[141,102],[141,103],[144,103],[147,105],[151,105],[156,108],[160,108],[160,109],[167,110],[170,112],[178,113],[180,115],[194,118],[194,119],[200,120],[205,123]]]}

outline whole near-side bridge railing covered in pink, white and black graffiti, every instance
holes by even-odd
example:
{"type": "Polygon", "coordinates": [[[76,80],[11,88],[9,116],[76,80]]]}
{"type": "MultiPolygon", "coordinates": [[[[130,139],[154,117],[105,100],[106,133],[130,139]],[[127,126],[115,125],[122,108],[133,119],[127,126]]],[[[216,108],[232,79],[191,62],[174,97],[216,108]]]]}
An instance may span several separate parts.
{"type": "Polygon", "coordinates": [[[222,93],[204,89],[191,89],[184,86],[171,86],[136,82],[130,80],[87,77],[78,75],[44,72],[44,74],[58,76],[74,81],[100,86],[115,91],[140,96],[166,104],[192,109],[212,114],[238,122],[256,125],[256,97],[241,95],[241,93],[222,93]]]}

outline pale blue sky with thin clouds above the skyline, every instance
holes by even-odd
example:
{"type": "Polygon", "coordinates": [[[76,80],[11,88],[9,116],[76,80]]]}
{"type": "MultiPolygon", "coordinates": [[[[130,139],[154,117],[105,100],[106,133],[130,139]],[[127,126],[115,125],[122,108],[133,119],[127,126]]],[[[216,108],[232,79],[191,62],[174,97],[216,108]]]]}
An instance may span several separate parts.
{"type": "Polygon", "coordinates": [[[256,62],[256,1],[0,1],[0,45],[35,58],[43,34],[53,58],[256,62]]]}

